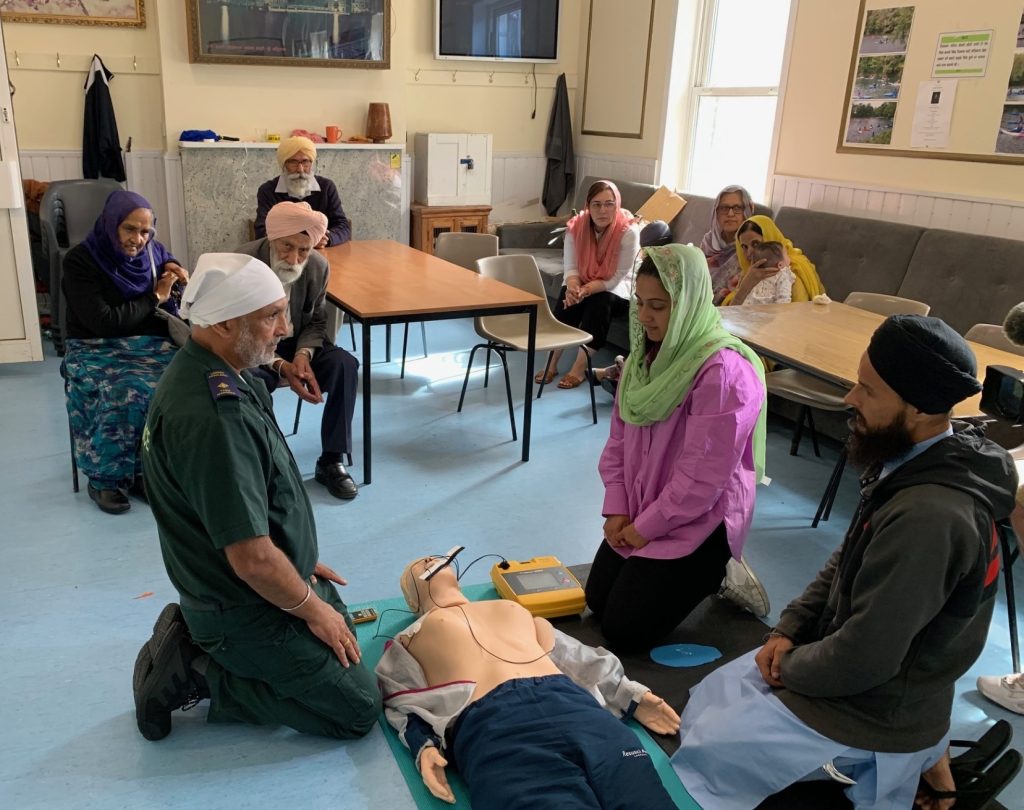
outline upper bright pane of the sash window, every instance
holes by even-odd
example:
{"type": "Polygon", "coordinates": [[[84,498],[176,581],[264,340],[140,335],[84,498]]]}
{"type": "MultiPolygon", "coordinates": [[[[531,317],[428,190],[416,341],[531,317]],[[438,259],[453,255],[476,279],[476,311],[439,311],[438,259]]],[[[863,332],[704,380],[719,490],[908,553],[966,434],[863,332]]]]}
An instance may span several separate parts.
{"type": "Polygon", "coordinates": [[[790,0],[718,0],[706,87],[776,87],[790,0]]]}

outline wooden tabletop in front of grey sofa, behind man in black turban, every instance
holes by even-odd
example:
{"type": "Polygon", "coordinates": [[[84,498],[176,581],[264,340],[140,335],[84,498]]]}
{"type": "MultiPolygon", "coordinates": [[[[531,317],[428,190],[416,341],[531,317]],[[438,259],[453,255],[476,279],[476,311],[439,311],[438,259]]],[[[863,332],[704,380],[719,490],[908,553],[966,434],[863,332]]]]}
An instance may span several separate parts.
{"type": "MultiPolygon", "coordinates": [[[[833,302],[830,304],[759,304],[723,306],[722,326],[751,348],[814,377],[852,388],[857,366],[883,315],[833,302]]],[[[1021,368],[1024,357],[968,341],[978,358],[978,379],[986,366],[1021,368]]],[[[981,414],[981,394],[953,408],[957,417],[981,414]]]]}

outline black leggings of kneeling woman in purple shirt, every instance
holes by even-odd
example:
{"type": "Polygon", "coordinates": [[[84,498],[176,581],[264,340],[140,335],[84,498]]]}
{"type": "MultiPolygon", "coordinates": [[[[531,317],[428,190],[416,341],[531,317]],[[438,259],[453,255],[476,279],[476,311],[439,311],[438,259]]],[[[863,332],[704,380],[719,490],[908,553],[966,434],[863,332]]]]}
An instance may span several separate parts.
{"type": "Polygon", "coordinates": [[[587,578],[587,606],[601,621],[611,649],[650,649],[718,593],[730,556],[724,524],[691,554],[676,559],[622,557],[602,542],[587,578]]]}

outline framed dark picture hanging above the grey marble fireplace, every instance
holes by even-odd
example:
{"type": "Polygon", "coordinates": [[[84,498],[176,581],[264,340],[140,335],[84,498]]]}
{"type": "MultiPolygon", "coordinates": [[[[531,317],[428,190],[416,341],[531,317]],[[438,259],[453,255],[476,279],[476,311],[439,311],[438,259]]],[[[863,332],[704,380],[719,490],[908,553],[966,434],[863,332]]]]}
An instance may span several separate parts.
{"type": "Polygon", "coordinates": [[[194,62],[391,67],[391,0],[185,0],[185,12],[194,62]]]}

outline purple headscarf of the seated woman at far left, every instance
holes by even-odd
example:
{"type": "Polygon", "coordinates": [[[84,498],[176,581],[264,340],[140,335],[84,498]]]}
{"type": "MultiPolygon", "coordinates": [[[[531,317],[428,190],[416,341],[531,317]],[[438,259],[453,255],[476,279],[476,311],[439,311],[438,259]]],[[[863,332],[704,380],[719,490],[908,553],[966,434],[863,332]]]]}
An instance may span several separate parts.
{"type": "MultiPolygon", "coordinates": [[[[129,256],[121,249],[118,226],[136,208],[153,211],[153,206],[141,195],[134,191],[113,191],[106,198],[103,211],[96,219],[96,224],[92,226],[92,232],[82,243],[92,255],[99,269],[114,280],[119,292],[127,300],[138,298],[138,296],[153,290],[151,254],[153,263],[157,265],[158,274],[166,262],[176,261],[168,250],[155,239],[151,239],[137,256],[129,256]]],[[[153,224],[157,224],[156,216],[153,218],[153,224]]]]}

